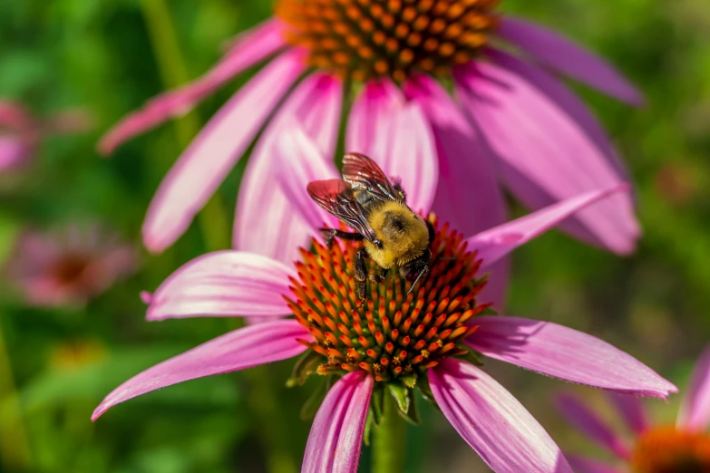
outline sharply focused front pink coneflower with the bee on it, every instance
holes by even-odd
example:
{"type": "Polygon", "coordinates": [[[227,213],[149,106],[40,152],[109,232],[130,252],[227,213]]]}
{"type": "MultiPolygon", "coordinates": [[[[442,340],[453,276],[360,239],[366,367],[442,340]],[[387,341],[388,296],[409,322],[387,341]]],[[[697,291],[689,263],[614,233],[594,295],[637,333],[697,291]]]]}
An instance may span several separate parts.
{"type": "MultiPolygon", "coordinates": [[[[431,201],[433,193],[424,176],[417,176],[419,168],[413,168],[403,178],[412,206],[431,201]]],[[[288,176],[293,182],[307,178],[287,172],[281,179],[288,176]]],[[[177,382],[301,355],[293,383],[312,374],[335,381],[313,422],[302,471],[355,472],[368,410],[379,410],[383,396],[392,392],[403,414],[412,415],[413,391],[419,389],[493,470],[569,472],[547,432],[481,369],[477,354],[610,391],[665,399],[676,388],[588,334],[555,323],[486,315],[490,304],[479,302],[486,282],[482,272],[530,238],[624,188],[588,192],[470,238],[443,224],[431,246],[435,263],[412,294],[407,294],[411,283],[394,274],[383,283],[368,282],[364,302],[354,290],[353,243],[336,242],[328,249],[314,238],[314,250],[300,249],[295,267],[236,250],[201,256],[145,296],[148,319],[248,316],[265,322],[141,372],[112,391],[92,419],[177,382]]],[[[301,189],[292,204],[306,213],[300,208],[307,202],[300,199],[306,194],[301,189]]],[[[373,265],[369,271],[374,275],[373,265]]]]}

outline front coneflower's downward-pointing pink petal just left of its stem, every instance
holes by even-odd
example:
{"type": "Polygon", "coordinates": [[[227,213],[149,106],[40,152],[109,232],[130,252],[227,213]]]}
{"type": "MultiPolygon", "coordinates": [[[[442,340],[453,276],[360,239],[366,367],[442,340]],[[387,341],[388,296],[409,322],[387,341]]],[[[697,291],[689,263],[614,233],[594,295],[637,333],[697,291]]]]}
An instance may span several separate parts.
{"type": "Polygon", "coordinates": [[[302,473],[355,473],[373,378],[365,372],[343,376],[328,391],[308,435],[302,473]]]}

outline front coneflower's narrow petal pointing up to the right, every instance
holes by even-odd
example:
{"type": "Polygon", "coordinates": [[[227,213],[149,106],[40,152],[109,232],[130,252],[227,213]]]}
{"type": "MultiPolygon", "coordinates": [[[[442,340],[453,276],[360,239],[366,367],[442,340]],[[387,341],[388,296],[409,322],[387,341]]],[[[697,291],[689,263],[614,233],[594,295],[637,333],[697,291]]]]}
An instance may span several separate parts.
{"type": "Polygon", "coordinates": [[[516,218],[508,223],[474,235],[468,239],[468,244],[471,248],[478,250],[478,256],[483,260],[481,267],[488,267],[501,257],[511,253],[518,246],[529,242],[536,236],[542,235],[551,227],[555,227],[564,221],[565,218],[579,210],[602,198],[607,198],[611,194],[627,190],[628,186],[621,184],[615,188],[595,190],[575,198],[562,200],[525,217],[516,218]]]}

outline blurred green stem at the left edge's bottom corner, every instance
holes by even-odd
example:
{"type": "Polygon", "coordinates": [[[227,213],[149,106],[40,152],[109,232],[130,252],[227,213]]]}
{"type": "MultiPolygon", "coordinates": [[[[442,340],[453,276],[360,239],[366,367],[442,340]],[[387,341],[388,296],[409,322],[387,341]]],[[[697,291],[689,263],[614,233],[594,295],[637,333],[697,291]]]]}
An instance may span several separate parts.
{"type": "Polygon", "coordinates": [[[0,469],[29,471],[32,469],[30,442],[2,328],[0,323],[0,459],[6,468],[0,469]]]}

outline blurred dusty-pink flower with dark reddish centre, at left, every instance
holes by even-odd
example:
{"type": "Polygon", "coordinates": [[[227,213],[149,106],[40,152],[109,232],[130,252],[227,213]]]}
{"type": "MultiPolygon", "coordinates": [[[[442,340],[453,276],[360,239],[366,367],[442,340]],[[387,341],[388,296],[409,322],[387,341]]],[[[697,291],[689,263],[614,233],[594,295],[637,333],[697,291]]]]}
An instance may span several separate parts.
{"type": "Polygon", "coordinates": [[[8,275],[29,304],[85,304],[135,271],[131,246],[97,227],[20,236],[8,275]]]}

